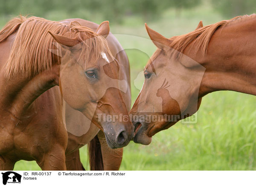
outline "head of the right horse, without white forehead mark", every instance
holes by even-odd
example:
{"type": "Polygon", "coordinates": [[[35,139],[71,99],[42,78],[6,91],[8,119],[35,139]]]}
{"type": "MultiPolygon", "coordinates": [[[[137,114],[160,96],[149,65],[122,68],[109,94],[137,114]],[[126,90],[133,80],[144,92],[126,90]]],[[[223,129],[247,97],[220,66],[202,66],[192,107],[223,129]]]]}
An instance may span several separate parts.
{"type": "MultiPolygon", "coordinates": [[[[145,26],[157,51],[144,69],[145,81],[130,113],[133,116],[151,116],[151,122],[146,122],[145,119],[133,121],[134,142],[148,145],[154,134],[197,111],[201,101],[198,99],[198,91],[204,67],[177,52],[172,47],[173,38],[165,38],[145,26]],[[177,54],[180,58],[177,58],[177,54]],[[170,116],[170,119],[161,119],[164,115],[170,116]]],[[[194,32],[199,32],[201,28],[200,22],[194,32]]]]}

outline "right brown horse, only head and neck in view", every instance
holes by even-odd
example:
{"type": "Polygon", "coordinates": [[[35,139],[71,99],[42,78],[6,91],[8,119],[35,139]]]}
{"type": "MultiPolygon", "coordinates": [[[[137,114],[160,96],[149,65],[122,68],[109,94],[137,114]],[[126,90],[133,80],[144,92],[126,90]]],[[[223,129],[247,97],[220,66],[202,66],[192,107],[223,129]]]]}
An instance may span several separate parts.
{"type": "Polygon", "coordinates": [[[135,121],[134,142],[149,144],[154,134],[195,113],[208,93],[256,95],[255,25],[256,15],[245,15],[199,24],[195,31],[170,39],[145,25],[157,51],[145,67],[144,85],[130,113],[157,120],[135,121]],[[163,115],[176,119],[158,119],[163,115]]]}

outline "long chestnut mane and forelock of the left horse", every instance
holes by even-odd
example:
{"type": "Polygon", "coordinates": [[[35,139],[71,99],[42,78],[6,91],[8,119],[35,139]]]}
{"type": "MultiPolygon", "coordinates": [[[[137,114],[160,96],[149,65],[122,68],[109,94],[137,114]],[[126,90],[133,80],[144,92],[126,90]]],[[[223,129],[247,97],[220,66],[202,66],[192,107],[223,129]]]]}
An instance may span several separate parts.
{"type": "Polygon", "coordinates": [[[77,21],[64,24],[40,17],[20,16],[10,20],[0,31],[0,42],[17,32],[4,67],[6,78],[16,76],[18,73],[30,77],[50,70],[55,62],[51,49],[56,48],[56,42],[48,31],[59,35],[66,34],[72,38],[75,35],[78,36],[82,43],[77,61],[79,64],[89,61],[90,54],[96,55],[96,60],[98,60],[102,52],[107,53],[113,59],[105,38],[81,26],[77,21]]]}

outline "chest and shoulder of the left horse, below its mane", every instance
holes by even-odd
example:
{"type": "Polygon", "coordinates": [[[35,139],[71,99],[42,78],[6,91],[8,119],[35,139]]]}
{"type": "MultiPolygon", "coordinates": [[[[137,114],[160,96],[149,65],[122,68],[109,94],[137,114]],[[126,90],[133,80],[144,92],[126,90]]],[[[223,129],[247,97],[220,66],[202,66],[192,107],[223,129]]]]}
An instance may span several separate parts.
{"type": "MultiPolygon", "coordinates": [[[[6,42],[9,43],[8,40],[6,42]]],[[[1,90],[4,90],[0,93],[2,141],[0,169],[12,170],[18,160],[36,160],[44,170],[66,169],[64,152],[67,146],[67,131],[61,122],[62,99],[58,87],[52,87],[44,92],[45,87],[52,86],[48,81],[37,80],[29,84],[28,80],[20,77],[13,79],[13,83],[9,84],[3,78],[3,73],[1,73],[0,85],[1,90]],[[27,97],[16,95],[18,89],[16,87],[19,87],[16,83],[23,85],[22,90],[27,97]],[[43,89],[31,92],[29,86],[38,87],[38,85],[43,89]],[[41,96],[34,101],[36,93],[41,96]],[[31,101],[26,102],[26,100],[31,101]],[[26,102],[29,106],[15,102],[26,102]]]]}

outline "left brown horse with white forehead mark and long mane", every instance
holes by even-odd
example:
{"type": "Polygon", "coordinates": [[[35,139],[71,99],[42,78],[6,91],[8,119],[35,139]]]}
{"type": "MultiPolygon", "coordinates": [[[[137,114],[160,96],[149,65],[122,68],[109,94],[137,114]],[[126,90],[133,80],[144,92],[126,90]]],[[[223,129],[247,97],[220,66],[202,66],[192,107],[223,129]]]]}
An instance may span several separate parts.
{"type": "Polygon", "coordinates": [[[15,18],[0,31],[1,170],[13,169],[18,160],[36,160],[43,170],[66,169],[63,99],[104,131],[111,148],[128,144],[131,123],[97,118],[127,114],[108,34],[108,22],[93,32],[74,21],[38,17],[15,18]],[[58,55],[50,52],[57,49],[54,41],[61,46],[58,55]]]}

